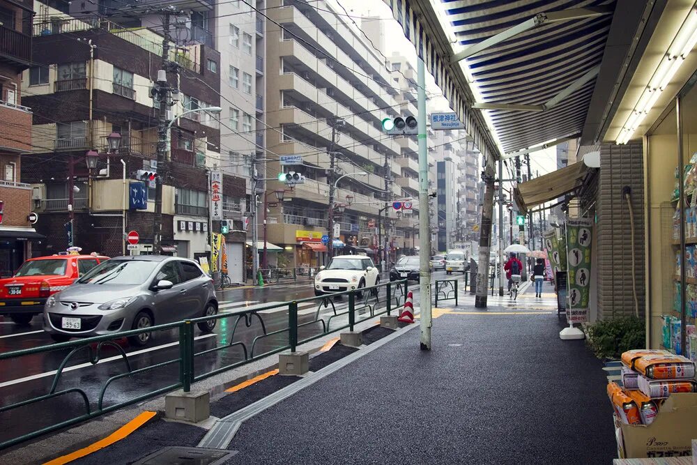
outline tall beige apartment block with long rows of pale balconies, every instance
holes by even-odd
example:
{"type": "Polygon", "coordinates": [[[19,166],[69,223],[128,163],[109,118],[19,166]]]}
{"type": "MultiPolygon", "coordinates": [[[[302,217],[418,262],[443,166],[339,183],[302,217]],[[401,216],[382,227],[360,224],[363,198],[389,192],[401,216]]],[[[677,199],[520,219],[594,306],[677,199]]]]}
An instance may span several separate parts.
{"type": "MultiPolygon", "coordinates": [[[[397,234],[391,200],[418,192],[417,179],[405,179],[395,162],[403,158],[402,145],[411,146],[413,155],[415,143],[400,142],[381,129],[384,117],[398,114],[395,73],[331,1],[268,0],[266,15],[273,20],[265,31],[266,123],[278,129],[266,131],[266,148],[276,155],[302,155],[302,164],[295,166],[280,165],[270,155],[267,169],[270,174],[297,171],[306,178],[286,192],[286,201],[268,204],[268,241],[284,249],[289,266],[323,264],[321,236],[329,232],[332,179],[337,186],[332,213],[339,224],[335,252],[365,253],[381,261],[383,250],[392,261],[404,252],[405,236],[397,234]],[[336,124],[337,117],[343,123],[336,124]],[[333,170],[329,152],[336,155],[333,170]]],[[[404,164],[414,172],[413,163],[404,164]]],[[[269,182],[266,192],[284,188],[269,182]]],[[[417,215],[415,208],[402,217],[417,215]]]]}

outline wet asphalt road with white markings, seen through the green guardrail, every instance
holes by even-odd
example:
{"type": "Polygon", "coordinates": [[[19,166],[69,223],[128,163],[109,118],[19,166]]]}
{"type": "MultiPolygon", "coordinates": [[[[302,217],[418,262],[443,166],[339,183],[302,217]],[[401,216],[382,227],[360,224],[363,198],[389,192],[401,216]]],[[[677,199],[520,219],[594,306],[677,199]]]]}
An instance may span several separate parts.
{"type": "MultiPolygon", "coordinates": [[[[453,277],[461,280],[460,275],[453,277]]],[[[446,277],[444,272],[436,272],[434,273],[434,279],[450,279],[450,276],[446,277]]],[[[414,291],[414,300],[418,305],[418,284],[410,282],[409,289],[414,291]]],[[[384,294],[385,290],[382,289],[379,296],[378,311],[385,305],[384,294]]],[[[194,352],[200,353],[208,349],[225,346],[233,341],[243,342],[247,351],[250,351],[249,356],[258,356],[261,353],[272,351],[288,343],[287,332],[260,337],[254,342],[256,337],[264,334],[261,321],[263,321],[263,325],[266,328],[266,333],[272,333],[288,327],[287,305],[272,310],[261,310],[258,313],[259,318],[251,317],[248,321],[245,321],[244,317],[234,315],[234,312],[250,310],[250,307],[253,306],[260,307],[273,303],[284,303],[289,300],[314,297],[314,292],[310,282],[298,282],[274,284],[263,288],[229,289],[218,291],[217,296],[220,306],[219,311],[232,314],[233,316],[227,319],[220,319],[213,333],[201,333],[197,328],[194,331],[194,352]],[[247,326],[247,323],[249,326],[247,326]]],[[[370,298],[369,303],[374,305],[374,300],[374,298],[370,298]]],[[[338,317],[333,317],[333,315],[334,310],[339,314],[346,312],[348,298],[335,299],[334,305],[335,309],[332,309],[331,305],[318,308],[318,303],[299,304],[299,322],[308,324],[299,328],[298,339],[303,340],[307,337],[321,334],[323,324],[317,321],[319,319],[325,321],[325,324],[330,329],[346,325],[348,317],[345,314],[338,317]],[[312,323],[313,321],[315,322],[312,323]]],[[[357,300],[357,309],[358,307],[357,300]]],[[[358,310],[357,321],[367,317],[369,317],[367,308],[358,310]]],[[[139,395],[165,388],[177,382],[179,365],[176,359],[178,358],[179,348],[178,331],[176,329],[153,333],[151,342],[143,347],[130,346],[125,339],[115,340],[114,342],[128,354],[127,360],[131,370],[175,361],[169,363],[169,365],[113,381],[104,392],[104,407],[126,402],[139,395]]],[[[0,353],[38,346],[49,346],[51,344],[53,344],[52,340],[41,328],[40,317],[35,317],[30,326],[17,326],[9,318],[0,321],[0,353]]],[[[52,388],[52,383],[56,379],[56,370],[68,353],[68,350],[63,349],[24,356],[14,360],[0,361],[0,406],[7,406],[31,397],[48,394],[52,388]]],[[[86,349],[75,353],[68,360],[66,368],[59,377],[55,392],[79,388],[88,397],[90,408],[94,411],[106,381],[112,376],[128,372],[126,360],[116,347],[103,346],[98,356],[98,363],[93,365],[89,362],[90,359],[86,349]]],[[[196,376],[199,376],[240,360],[244,360],[243,348],[240,345],[201,354],[194,359],[194,373],[196,376]]],[[[81,416],[85,412],[86,406],[82,396],[77,392],[69,392],[43,402],[0,413],[0,442],[35,429],[40,429],[41,427],[70,420],[71,418],[81,416]]]]}

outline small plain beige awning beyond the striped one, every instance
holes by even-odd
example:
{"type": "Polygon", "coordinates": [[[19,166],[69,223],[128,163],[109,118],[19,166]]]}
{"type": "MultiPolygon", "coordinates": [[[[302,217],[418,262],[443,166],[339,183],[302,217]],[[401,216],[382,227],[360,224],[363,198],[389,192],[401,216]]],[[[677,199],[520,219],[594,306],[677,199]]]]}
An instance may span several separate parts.
{"type": "Polygon", "coordinates": [[[583,185],[588,167],[581,161],[565,168],[539,176],[532,181],[520,183],[514,190],[516,203],[523,213],[539,204],[558,199],[583,185]]]}

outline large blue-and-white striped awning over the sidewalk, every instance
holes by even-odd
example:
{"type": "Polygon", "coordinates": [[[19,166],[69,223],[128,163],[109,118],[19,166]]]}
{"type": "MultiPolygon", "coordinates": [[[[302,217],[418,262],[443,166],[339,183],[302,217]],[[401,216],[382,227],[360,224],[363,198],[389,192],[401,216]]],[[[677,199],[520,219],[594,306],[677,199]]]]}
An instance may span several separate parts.
{"type": "Polygon", "coordinates": [[[488,112],[502,155],[581,134],[615,0],[384,1],[452,108],[488,112]]]}

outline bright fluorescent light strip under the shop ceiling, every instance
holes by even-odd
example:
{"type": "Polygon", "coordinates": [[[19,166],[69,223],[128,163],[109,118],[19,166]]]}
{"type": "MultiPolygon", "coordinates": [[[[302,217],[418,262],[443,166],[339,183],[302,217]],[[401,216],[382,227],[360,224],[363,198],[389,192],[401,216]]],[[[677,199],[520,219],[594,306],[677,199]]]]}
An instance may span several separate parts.
{"type": "Polygon", "coordinates": [[[661,63],[657,66],[651,79],[644,89],[638,102],[632,109],[631,114],[627,117],[627,121],[622,125],[620,134],[618,134],[615,142],[617,144],[627,144],[631,136],[634,135],[637,128],[644,121],[648,112],[651,111],[656,102],[661,96],[668,84],[684,63],[687,55],[692,51],[697,44],[697,2],[690,9],[689,15],[685,18],[682,26],[675,34],[671,46],[668,47],[666,54],[661,63]]]}

